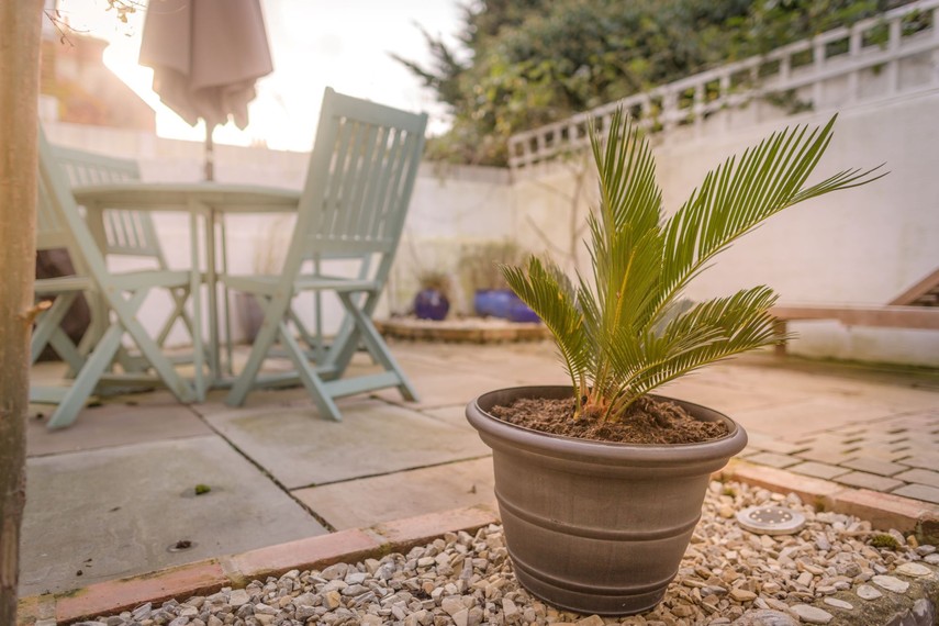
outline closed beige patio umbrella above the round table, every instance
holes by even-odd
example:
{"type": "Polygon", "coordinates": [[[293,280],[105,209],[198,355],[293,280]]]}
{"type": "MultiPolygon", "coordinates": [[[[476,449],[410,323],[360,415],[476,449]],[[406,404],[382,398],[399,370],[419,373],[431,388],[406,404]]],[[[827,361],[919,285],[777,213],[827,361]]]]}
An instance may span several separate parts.
{"type": "Polygon", "coordinates": [[[193,126],[205,121],[213,180],[213,130],[230,115],[244,130],[255,81],[273,69],[259,0],[150,0],[139,63],[167,107],[193,126]]]}

